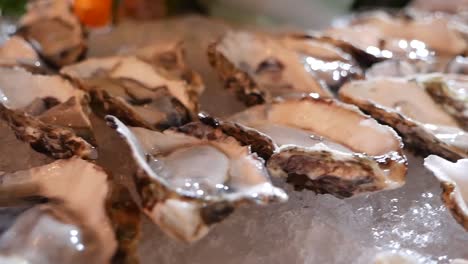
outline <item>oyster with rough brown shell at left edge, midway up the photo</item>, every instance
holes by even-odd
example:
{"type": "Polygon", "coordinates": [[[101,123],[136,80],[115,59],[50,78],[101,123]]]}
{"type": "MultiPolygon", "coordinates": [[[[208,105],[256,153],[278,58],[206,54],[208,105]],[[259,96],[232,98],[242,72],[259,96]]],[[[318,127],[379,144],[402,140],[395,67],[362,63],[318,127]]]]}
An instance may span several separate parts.
{"type": "Polygon", "coordinates": [[[85,94],[59,76],[0,68],[0,118],[18,138],[55,158],[96,158],[85,94]]]}

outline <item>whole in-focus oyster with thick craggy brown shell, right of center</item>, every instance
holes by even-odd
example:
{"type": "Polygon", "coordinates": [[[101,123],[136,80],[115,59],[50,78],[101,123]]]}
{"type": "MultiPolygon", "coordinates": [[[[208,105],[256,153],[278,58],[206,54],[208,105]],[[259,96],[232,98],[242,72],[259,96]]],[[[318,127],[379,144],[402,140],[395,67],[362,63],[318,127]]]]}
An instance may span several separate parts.
{"type": "Polygon", "coordinates": [[[401,139],[354,106],[308,96],[254,106],[228,120],[213,123],[251,145],[272,176],[296,189],[344,198],[405,182],[401,139]]]}

